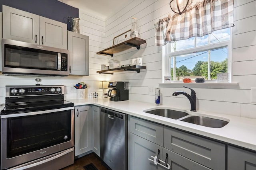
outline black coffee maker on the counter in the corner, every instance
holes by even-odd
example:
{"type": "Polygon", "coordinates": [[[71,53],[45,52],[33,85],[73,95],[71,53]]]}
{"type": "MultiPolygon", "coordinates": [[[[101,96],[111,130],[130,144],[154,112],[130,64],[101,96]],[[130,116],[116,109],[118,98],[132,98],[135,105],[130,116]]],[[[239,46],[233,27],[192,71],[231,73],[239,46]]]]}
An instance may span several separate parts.
{"type": "Polygon", "coordinates": [[[109,100],[112,101],[123,101],[129,100],[129,82],[109,82],[108,90],[109,100]]]}

